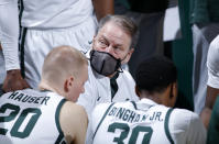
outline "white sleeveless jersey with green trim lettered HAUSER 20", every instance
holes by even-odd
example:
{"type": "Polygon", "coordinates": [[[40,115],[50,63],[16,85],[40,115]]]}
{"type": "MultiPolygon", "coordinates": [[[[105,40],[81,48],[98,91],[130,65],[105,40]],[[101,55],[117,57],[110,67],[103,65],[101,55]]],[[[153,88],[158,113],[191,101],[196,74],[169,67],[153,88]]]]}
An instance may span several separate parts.
{"type": "Polygon", "coordinates": [[[65,99],[54,92],[25,89],[0,98],[0,143],[65,143],[59,110],[65,99]]]}

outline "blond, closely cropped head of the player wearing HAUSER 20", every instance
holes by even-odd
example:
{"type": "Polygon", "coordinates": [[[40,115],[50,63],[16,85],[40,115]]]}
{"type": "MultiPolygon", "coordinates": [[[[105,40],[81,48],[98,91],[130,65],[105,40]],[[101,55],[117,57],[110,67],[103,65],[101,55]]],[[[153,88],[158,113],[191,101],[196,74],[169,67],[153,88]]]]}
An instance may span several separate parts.
{"type": "Polygon", "coordinates": [[[87,58],[76,48],[59,46],[46,56],[40,89],[53,90],[70,101],[85,91],[88,79],[87,58]]]}

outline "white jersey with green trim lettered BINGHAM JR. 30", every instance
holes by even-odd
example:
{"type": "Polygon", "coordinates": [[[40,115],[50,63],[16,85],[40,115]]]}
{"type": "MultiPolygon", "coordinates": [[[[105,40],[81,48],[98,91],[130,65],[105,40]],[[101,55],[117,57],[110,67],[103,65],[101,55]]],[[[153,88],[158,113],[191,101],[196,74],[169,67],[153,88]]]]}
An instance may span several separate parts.
{"type": "Polygon", "coordinates": [[[90,124],[94,144],[202,144],[206,140],[196,113],[149,99],[99,104],[90,124]]]}

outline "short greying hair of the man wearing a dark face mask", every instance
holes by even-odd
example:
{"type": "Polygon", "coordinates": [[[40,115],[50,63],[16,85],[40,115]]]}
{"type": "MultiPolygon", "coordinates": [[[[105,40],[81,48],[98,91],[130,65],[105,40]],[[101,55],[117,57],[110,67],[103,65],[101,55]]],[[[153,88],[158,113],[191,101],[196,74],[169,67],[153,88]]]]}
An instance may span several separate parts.
{"type": "Polygon", "coordinates": [[[125,16],[125,15],[111,15],[108,14],[105,18],[102,18],[99,22],[98,29],[97,29],[97,33],[99,32],[99,30],[105,26],[106,23],[108,22],[113,22],[114,24],[117,24],[118,26],[120,26],[125,33],[128,33],[131,36],[131,41],[132,44],[130,45],[130,47],[134,47],[135,46],[135,42],[138,38],[138,26],[134,23],[134,21],[132,21],[130,18],[125,16]]]}

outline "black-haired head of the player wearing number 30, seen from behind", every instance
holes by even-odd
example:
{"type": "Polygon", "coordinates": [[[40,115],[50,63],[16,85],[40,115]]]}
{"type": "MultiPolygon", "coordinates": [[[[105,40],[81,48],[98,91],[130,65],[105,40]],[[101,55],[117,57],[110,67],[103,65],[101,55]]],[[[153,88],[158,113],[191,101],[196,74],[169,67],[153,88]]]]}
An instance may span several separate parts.
{"type": "Polygon", "coordinates": [[[136,93],[157,103],[174,107],[177,97],[177,71],[164,56],[143,60],[136,69],[136,93]]]}

